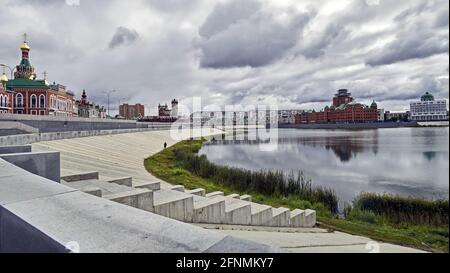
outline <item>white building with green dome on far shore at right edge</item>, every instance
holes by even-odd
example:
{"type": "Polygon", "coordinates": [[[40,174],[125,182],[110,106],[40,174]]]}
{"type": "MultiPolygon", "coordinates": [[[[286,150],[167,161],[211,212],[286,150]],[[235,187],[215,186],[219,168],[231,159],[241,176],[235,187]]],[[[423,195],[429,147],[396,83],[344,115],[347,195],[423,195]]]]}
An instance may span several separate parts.
{"type": "Polygon", "coordinates": [[[411,102],[410,109],[411,119],[415,121],[448,120],[447,101],[435,100],[429,92],[426,92],[420,101],[411,102]]]}

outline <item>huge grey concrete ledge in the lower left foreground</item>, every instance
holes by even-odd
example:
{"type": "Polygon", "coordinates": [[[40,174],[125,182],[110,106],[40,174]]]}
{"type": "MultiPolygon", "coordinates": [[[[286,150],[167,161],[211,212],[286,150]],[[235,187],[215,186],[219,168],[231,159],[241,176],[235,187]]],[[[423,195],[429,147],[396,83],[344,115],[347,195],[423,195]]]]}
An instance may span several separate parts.
{"type": "Polygon", "coordinates": [[[81,253],[274,251],[81,192],[10,204],[0,213],[0,252],[67,252],[68,242],[81,253]]]}

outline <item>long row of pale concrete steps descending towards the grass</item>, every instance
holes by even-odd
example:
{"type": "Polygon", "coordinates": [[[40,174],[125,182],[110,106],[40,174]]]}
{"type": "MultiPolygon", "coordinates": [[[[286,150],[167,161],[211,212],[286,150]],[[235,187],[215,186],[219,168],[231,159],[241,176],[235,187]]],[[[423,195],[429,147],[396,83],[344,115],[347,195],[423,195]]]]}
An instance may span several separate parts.
{"type": "Polygon", "coordinates": [[[310,209],[273,208],[252,202],[250,195],[183,186],[161,189],[159,182],[133,186],[131,177],[100,180],[98,172],[61,177],[61,183],[118,203],[188,223],[304,228],[316,225],[310,209]]]}

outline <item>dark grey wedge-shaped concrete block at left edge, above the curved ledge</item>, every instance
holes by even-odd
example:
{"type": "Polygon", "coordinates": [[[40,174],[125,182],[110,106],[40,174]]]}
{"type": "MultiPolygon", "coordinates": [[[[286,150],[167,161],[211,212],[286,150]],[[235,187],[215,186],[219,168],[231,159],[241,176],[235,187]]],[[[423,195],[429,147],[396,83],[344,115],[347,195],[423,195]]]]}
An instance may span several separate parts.
{"type": "Polygon", "coordinates": [[[5,161],[30,173],[60,182],[59,152],[33,152],[0,155],[5,161]]]}

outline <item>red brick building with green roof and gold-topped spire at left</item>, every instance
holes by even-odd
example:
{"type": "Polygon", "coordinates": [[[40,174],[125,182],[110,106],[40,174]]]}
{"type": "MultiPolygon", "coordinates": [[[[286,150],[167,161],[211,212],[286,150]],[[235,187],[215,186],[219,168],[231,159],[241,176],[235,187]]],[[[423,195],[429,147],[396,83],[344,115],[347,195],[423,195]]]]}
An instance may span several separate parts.
{"type": "Polygon", "coordinates": [[[6,89],[14,96],[11,99],[15,114],[74,116],[74,94],[61,84],[47,82],[47,73],[43,79],[38,79],[34,66],[30,61],[31,48],[27,36],[24,35],[20,46],[22,58],[14,68],[14,79],[6,82],[6,89]]]}

